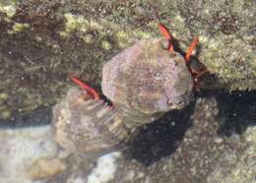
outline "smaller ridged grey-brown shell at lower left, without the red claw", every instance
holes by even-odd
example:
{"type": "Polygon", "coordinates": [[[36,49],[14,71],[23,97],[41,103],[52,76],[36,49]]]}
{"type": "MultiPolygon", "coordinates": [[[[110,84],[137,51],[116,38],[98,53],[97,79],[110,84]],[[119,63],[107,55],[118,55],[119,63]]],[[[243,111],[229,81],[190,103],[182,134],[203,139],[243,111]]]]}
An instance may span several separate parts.
{"type": "Polygon", "coordinates": [[[67,152],[108,152],[128,139],[117,111],[77,88],[53,107],[55,141],[67,152]]]}

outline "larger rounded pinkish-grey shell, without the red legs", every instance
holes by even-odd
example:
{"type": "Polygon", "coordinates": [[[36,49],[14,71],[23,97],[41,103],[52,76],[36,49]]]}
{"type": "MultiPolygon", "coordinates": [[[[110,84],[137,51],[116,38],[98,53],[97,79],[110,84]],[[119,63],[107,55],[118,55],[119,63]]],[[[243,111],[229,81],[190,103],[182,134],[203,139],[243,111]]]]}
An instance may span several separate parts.
{"type": "Polygon", "coordinates": [[[141,40],[103,66],[102,92],[128,128],[150,123],[193,99],[193,80],[184,58],[164,50],[159,41],[141,40]]]}

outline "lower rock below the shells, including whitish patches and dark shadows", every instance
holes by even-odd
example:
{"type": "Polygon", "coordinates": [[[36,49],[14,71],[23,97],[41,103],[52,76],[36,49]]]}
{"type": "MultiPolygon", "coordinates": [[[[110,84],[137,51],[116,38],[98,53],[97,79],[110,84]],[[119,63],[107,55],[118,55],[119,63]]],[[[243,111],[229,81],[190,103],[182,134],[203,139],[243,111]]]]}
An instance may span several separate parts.
{"type": "Polygon", "coordinates": [[[0,182],[255,182],[255,95],[204,95],[103,155],[63,151],[49,126],[1,129],[0,182]]]}

